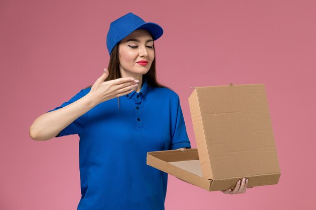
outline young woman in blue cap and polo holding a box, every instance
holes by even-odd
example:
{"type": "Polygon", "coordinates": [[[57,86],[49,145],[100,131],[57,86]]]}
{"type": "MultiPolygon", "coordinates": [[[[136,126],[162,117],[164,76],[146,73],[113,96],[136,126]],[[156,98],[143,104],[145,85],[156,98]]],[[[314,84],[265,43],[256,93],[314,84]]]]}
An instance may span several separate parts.
{"type": "MultiPolygon", "coordinates": [[[[108,69],[30,127],[37,141],[78,134],[78,209],[165,209],[168,174],[146,164],[150,151],[191,148],[179,96],[156,81],[154,40],[163,29],[128,13],[111,23],[108,69]]],[[[244,193],[247,182],[234,190],[244,193]]]]}

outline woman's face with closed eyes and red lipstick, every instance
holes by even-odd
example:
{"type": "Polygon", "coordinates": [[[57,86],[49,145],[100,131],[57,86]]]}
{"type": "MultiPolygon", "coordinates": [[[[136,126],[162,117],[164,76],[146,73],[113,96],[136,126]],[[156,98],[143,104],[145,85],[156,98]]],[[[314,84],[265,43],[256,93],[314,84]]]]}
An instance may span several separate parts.
{"type": "Polygon", "coordinates": [[[154,58],[153,40],[144,29],[133,31],[119,44],[120,72],[122,77],[139,78],[149,71],[154,58]],[[146,60],[146,65],[137,63],[146,60]]]}

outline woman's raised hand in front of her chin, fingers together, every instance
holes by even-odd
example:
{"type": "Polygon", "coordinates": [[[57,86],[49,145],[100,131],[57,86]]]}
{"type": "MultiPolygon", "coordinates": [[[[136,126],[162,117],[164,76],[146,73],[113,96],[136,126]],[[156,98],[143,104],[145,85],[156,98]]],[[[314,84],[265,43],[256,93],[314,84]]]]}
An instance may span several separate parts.
{"type": "Polygon", "coordinates": [[[95,81],[88,93],[96,104],[131,93],[133,91],[132,88],[139,83],[138,80],[131,77],[104,82],[108,76],[109,71],[107,68],[104,68],[104,73],[95,81]]]}

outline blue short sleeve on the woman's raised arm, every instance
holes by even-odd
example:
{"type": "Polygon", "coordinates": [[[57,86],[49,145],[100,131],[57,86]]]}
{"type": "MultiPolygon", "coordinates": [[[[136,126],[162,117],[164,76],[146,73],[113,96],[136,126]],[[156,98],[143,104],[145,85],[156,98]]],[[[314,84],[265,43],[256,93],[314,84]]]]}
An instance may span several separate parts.
{"type": "MultiPolygon", "coordinates": [[[[57,109],[63,108],[65,106],[79,100],[80,98],[82,98],[85,95],[86,95],[85,91],[81,90],[74,97],[72,97],[69,101],[64,102],[61,106],[58,106],[55,109],[49,110],[47,112],[51,112],[51,111],[55,111],[57,109]]],[[[70,123],[67,127],[65,127],[63,130],[61,130],[61,132],[58,135],[56,135],[55,137],[81,133],[84,126],[86,125],[86,121],[87,121],[87,117],[85,116],[85,114],[81,115],[75,121],[70,123]]]]}

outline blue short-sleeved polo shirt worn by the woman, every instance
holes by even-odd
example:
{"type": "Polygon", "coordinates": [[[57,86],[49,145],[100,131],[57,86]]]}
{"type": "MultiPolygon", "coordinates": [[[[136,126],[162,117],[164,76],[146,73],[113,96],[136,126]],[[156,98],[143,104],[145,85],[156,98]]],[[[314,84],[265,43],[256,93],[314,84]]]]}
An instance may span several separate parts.
{"type": "MultiPolygon", "coordinates": [[[[83,89],[54,111],[85,96],[83,89]]],[[[78,134],[78,210],[163,210],[168,174],[146,164],[147,152],[191,148],[179,96],[152,88],[102,102],[56,137],[78,134]]],[[[48,111],[48,112],[49,112],[48,111]]]]}

